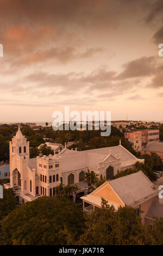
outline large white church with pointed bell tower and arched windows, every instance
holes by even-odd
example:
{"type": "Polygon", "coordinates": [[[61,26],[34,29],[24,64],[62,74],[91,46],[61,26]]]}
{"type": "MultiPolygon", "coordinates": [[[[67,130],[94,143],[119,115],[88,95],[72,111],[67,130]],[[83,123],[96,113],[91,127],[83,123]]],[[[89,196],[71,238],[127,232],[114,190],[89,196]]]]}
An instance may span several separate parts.
{"type": "Polygon", "coordinates": [[[59,154],[29,158],[29,142],[20,127],[10,142],[10,184],[16,196],[25,202],[40,196],[55,196],[60,182],[64,185],[77,184],[79,192],[86,191],[83,174],[89,169],[109,179],[121,170],[133,168],[137,159],[121,145],[85,151],[66,148],[59,154]]]}

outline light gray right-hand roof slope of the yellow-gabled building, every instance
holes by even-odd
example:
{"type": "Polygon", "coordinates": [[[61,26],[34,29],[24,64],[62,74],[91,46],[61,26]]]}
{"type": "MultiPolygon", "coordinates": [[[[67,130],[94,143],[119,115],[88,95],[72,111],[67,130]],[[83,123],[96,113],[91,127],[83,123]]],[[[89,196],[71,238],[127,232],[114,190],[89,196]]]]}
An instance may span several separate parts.
{"type": "Polygon", "coordinates": [[[141,170],[108,182],[123,203],[130,206],[139,205],[159,193],[158,189],[141,170]]]}

